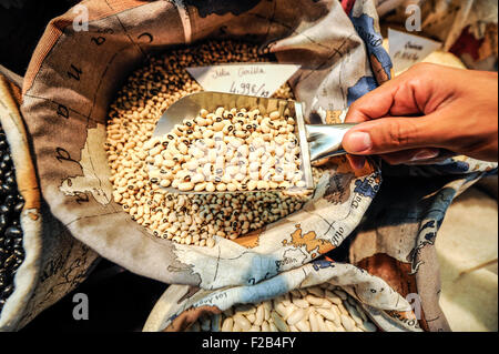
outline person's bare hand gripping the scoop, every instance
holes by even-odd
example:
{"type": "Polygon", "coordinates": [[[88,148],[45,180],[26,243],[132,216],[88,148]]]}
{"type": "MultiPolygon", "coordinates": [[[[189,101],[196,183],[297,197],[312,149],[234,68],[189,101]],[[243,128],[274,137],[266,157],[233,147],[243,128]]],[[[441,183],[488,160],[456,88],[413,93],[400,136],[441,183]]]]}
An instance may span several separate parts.
{"type": "Polygon", "coordinates": [[[390,164],[452,154],[498,160],[498,74],[419,63],[354,102],[343,139],[354,169],[365,155],[390,164]]]}

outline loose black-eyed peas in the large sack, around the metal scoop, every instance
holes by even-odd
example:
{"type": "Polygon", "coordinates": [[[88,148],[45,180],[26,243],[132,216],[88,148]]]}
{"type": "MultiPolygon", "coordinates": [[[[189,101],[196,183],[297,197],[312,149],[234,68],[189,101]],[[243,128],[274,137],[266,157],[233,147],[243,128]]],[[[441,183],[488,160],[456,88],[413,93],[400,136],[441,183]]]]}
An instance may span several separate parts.
{"type": "MultiPolygon", "coordinates": [[[[234,240],[299,210],[308,200],[307,195],[257,190],[181,195],[165,192],[161,181],[150,175],[146,161],[151,161],[147,158],[152,146],[147,141],[159,119],[182,97],[202,91],[185,69],[262,61],[268,58],[258,55],[256,45],[236,41],[203,42],[151,58],[118,92],[110,108],[104,144],[113,199],[154,235],[182,244],[213,246],[214,235],[234,240]]],[[[288,85],[274,97],[293,99],[288,85]]]]}

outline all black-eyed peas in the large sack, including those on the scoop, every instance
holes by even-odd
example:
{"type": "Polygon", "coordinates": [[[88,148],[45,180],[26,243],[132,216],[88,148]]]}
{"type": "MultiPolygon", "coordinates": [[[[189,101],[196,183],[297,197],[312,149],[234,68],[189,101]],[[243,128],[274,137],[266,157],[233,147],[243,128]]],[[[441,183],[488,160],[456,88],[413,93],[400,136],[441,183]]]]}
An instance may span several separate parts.
{"type": "MultiPolygon", "coordinates": [[[[202,110],[200,114],[204,118],[202,115],[198,118],[203,121],[197,120],[196,123],[196,119],[186,119],[185,127],[176,124],[165,136],[161,136],[162,140],[153,138],[160,117],[170,105],[182,97],[202,90],[186,73],[186,68],[225,62],[261,62],[269,59],[271,55],[257,54],[256,44],[207,41],[189,49],[169,51],[150,60],[143,68],[134,71],[125,87],[119,91],[116,99],[111,103],[105,143],[112,174],[110,181],[113,184],[113,198],[133,220],[149,229],[155,236],[181,244],[213,247],[215,244],[213,236],[236,240],[298,211],[313,196],[310,191],[285,193],[286,191],[258,190],[261,184],[265,184],[268,189],[272,184],[278,186],[287,183],[289,188],[294,181],[304,183],[303,172],[299,165],[298,168],[295,165],[299,151],[297,153],[294,150],[288,152],[293,170],[286,175],[282,173],[281,182],[276,182],[276,176],[279,176],[276,159],[284,162],[287,158],[281,146],[284,146],[286,141],[296,145],[297,141],[294,121],[293,124],[288,123],[292,118],[285,119],[279,115],[273,117],[271,121],[267,117],[268,123],[277,127],[271,130],[269,125],[265,125],[265,118],[259,111],[254,115],[254,111],[246,113],[246,109],[237,111],[236,108],[233,111],[216,110],[211,113],[202,110]],[[217,53],[215,61],[206,54],[213,52],[217,53]],[[152,80],[147,80],[150,78],[152,80]],[[216,124],[224,124],[224,129],[217,130],[216,124]],[[249,129],[246,129],[247,125],[251,125],[249,129]],[[292,130],[288,131],[288,128],[292,130]],[[240,136],[240,132],[244,136],[240,136]],[[283,140],[283,144],[276,144],[277,148],[272,144],[279,139],[283,140]],[[259,150],[255,150],[252,142],[258,143],[261,150],[267,148],[268,153],[263,152],[258,155],[259,150]],[[215,149],[208,149],[204,154],[196,148],[201,143],[213,145],[212,148],[220,143],[225,150],[221,153],[215,149]],[[245,146],[247,149],[243,151],[245,146]],[[278,149],[283,151],[278,152],[278,149]],[[191,156],[190,152],[198,159],[191,156]],[[197,152],[202,154],[197,156],[197,152]],[[258,162],[254,161],[253,164],[257,164],[254,169],[251,159],[262,156],[266,158],[265,162],[262,163],[262,159],[258,162]],[[271,160],[272,165],[267,164],[271,160]],[[234,172],[234,169],[237,171],[234,172]],[[265,179],[267,173],[269,178],[265,179]],[[252,179],[254,174],[256,178],[252,179]],[[197,176],[201,176],[200,181],[197,176]],[[289,179],[285,181],[285,176],[289,179]],[[196,188],[204,186],[203,190],[206,192],[224,193],[213,195],[171,193],[163,186],[170,186],[172,181],[173,185],[180,189],[186,184],[194,189],[194,182],[198,182],[196,188]],[[232,192],[243,190],[246,193],[231,193],[231,190],[232,192]]],[[[274,97],[294,98],[287,84],[274,97]]],[[[288,165],[283,163],[281,170],[286,166],[288,165]]],[[[314,169],[317,182],[322,174],[319,169],[314,169]]]]}

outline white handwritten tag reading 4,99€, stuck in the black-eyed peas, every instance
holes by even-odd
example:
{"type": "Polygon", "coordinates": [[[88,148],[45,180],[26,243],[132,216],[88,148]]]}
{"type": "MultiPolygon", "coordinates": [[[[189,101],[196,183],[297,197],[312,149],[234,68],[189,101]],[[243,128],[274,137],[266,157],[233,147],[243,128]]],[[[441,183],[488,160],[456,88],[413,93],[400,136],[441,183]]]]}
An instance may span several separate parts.
{"type": "Polygon", "coordinates": [[[299,67],[275,63],[234,63],[187,68],[187,71],[206,91],[268,98],[299,67]]]}

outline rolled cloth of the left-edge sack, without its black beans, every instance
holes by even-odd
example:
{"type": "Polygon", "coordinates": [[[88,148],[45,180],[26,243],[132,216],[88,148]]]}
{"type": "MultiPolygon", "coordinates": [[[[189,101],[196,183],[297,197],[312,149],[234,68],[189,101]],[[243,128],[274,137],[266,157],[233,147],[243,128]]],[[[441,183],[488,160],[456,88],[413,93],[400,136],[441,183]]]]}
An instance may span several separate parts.
{"type": "MultiPolygon", "coordinates": [[[[2,70],[3,71],[3,70],[2,70]]],[[[40,200],[24,123],[19,113],[21,89],[14,75],[0,73],[0,121],[26,204],[21,213],[24,261],[14,276],[14,292],[0,313],[0,332],[21,328],[42,310],[83,281],[96,254],[63,232],[40,200]],[[9,77],[9,78],[8,78],[9,77]]]]}

